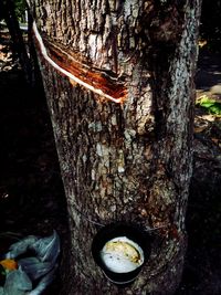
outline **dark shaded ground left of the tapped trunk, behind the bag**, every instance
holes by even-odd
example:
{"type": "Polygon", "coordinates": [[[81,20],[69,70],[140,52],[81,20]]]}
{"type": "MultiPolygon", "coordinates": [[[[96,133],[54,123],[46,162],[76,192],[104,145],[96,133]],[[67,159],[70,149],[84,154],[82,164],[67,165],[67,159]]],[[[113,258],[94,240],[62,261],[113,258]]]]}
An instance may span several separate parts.
{"type": "MultiPolygon", "coordinates": [[[[66,204],[43,91],[27,85],[11,56],[0,66],[0,253],[19,238],[53,230],[66,249],[66,204]]],[[[45,294],[60,286],[57,275],[45,294]]]]}

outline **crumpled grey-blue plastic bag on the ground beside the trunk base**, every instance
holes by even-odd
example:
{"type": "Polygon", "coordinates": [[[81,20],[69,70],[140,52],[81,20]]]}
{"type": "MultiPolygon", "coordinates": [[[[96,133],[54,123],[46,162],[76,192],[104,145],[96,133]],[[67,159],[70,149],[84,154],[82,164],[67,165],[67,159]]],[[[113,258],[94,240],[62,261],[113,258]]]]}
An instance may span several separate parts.
{"type": "Polygon", "coordinates": [[[30,235],[12,244],[4,257],[17,260],[19,268],[7,272],[0,295],[42,294],[55,277],[59,254],[60,238],[56,231],[46,238],[30,235]],[[25,254],[29,256],[25,257],[25,254]]]}

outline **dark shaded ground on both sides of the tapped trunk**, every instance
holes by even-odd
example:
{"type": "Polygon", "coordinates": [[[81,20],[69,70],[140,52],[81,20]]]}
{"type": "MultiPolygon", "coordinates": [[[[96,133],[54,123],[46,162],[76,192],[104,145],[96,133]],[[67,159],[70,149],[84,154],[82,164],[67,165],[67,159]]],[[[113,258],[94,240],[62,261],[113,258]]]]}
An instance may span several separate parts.
{"type": "MultiPolygon", "coordinates": [[[[29,234],[48,235],[55,229],[67,249],[66,204],[46,101],[41,87],[24,81],[0,39],[0,255],[10,243],[29,234]]],[[[220,86],[220,56],[200,56],[198,95],[220,86]],[[206,62],[207,61],[207,62],[206,62]],[[210,71],[214,63],[213,82],[210,71]],[[214,74],[214,72],[217,74],[214,74]],[[209,74],[208,84],[203,75],[209,74]],[[201,76],[200,76],[201,75],[201,76]],[[201,83],[201,84],[200,84],[201,83]]],[[[177,295],[221,294],[221,122],[197,108],[193,177],[187,212],[189,246],[177,295]],[[204,117],[206,116],[206,117],[204,117]]],[[[65,256],[62,252],[63,257],[65,256]]],[[[59,295],[57,278],[44,293],[59,295]]]]}

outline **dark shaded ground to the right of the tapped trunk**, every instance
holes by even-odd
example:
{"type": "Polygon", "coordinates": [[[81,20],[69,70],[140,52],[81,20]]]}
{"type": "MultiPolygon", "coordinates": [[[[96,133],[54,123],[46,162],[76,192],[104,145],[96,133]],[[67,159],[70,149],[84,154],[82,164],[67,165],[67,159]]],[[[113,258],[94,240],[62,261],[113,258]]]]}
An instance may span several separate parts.
{"type": "MultiPolygon", "coordinates": [[[[196,84],[198,96],[220,101],[220,54],[200,52],[196,84]]],[[[200,107],[196,108],[196,130],[200,131],[194,134],[193,141],[193,176],[187,211],[189,243],[182,282],[176,295],[220,295],[221,118],[212,118],[200,107]]]]}

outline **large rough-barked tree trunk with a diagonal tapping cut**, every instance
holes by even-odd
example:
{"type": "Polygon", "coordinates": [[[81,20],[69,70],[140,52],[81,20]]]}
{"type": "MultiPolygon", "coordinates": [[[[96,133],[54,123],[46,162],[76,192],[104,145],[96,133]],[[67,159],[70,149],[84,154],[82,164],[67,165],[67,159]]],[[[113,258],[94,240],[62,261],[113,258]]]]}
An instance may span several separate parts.
{"type": "Polygon", "coordinates": [[[200,0],[30,8],[69,206],[63,294],[172,294],[187,246],[200,0]],[[91,254],[97,230],[117,221],[156,229],[149,261],[124,289],[91,254]]]}

